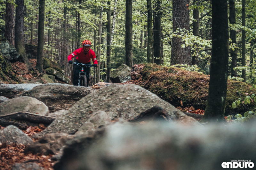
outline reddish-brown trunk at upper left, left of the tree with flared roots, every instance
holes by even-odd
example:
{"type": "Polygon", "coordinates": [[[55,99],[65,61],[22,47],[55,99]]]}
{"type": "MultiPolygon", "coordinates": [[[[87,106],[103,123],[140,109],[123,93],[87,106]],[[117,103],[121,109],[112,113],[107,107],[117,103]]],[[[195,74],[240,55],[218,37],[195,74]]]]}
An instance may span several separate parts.
{"type": "Polygon", "coordinates": [[[5,1],[5,38],[14,46],[14,5],[5,1]]]}

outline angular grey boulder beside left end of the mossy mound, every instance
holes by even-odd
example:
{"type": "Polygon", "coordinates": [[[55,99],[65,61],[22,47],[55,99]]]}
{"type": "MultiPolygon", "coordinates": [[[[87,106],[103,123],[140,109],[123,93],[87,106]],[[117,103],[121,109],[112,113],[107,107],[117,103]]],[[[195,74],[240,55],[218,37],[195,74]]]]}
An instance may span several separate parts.
{"type": "Polygon", "coordinates": [[[112,83],[124,83],[125,81],[132,80],[130,74],[131,68],[122,64],[116,70],[111,72],[110,80],[112,83]]]}

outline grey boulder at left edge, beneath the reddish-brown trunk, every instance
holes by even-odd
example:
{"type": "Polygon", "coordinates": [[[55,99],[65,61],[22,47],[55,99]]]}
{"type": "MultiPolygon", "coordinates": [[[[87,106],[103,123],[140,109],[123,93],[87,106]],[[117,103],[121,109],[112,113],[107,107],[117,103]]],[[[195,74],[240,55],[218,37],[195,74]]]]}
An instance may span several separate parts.
{"type": "Polygon", "coordinates": [[[21,61],[20,54],[17,53],[17,49],[14,48],[8,41],[1,41],[0,51],[2,55],[9,61],[21,61]]]}

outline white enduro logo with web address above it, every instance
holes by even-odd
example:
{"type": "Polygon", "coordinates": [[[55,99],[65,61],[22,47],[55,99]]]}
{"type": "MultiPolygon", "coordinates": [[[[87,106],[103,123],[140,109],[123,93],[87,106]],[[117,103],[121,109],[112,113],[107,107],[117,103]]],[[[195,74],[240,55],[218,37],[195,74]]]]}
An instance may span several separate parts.
{"type": "Polygon", "coordinates": [[[231,162],[222,162],[223,168],[253,168],[254,163],[251,160],[231,160],[231,162]]]}

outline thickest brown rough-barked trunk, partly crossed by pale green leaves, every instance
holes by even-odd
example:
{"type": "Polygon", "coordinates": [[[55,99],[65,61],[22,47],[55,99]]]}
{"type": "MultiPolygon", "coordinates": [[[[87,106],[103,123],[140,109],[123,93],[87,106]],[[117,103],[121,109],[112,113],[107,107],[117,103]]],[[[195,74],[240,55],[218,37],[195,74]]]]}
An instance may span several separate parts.
{"type": "MultiPolygon", "coordinates": [[[[173,0],[172,1],[172,31],[176,32],[177,28],[189,30],[189,0],[173,0]]],[[[171,65],[188,64],[191,65],[190,46],[181,48],[181,38],[174,37],[172,39],[171,65]]]]}

